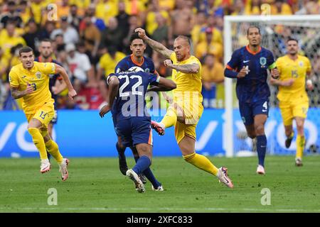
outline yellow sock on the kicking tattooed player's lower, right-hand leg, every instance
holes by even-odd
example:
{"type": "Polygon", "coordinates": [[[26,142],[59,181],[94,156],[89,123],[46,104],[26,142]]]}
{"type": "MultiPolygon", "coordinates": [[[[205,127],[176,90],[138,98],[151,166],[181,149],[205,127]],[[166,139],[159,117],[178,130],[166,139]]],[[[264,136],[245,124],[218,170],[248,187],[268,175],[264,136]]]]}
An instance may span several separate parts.
{"type": "Polygon", "coordinates": [[[184,160],[195,165],[200,170],[204,170],[212,175],[218,174],[218,168],[215,167],[206,156],[193,153],[191,155],[182,156],[184,160]]]}

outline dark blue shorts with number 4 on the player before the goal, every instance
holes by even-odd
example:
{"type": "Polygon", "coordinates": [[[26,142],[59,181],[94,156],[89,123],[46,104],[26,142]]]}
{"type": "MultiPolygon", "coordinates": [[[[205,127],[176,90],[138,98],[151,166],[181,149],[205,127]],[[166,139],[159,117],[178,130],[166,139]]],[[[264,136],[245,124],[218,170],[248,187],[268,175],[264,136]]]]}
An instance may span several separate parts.
{"type": "Polygon", "coordinates": [[[239,102],[240,116],[245,126],[254,123],[254,118],[258,114],[269,116],[269,99],[262,99],[252,103],[239,102]]]}

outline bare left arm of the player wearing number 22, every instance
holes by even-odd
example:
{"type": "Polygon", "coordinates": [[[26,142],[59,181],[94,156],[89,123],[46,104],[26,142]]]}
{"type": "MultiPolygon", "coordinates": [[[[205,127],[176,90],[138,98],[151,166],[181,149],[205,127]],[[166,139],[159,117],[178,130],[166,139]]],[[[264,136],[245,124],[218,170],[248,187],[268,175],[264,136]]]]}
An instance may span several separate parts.
{"type": "Polygon", "coordinates": [[[104,117],[111,110],[111,106],[114,103],[114,99],[116,98],[119,90],[119,79],[115,75],[109,75],[107,78],[107,84],[109,84],[109,94],[108,94],[108,101],[105,106],[103,106],[100,111],[100,117],[104,117]]]}

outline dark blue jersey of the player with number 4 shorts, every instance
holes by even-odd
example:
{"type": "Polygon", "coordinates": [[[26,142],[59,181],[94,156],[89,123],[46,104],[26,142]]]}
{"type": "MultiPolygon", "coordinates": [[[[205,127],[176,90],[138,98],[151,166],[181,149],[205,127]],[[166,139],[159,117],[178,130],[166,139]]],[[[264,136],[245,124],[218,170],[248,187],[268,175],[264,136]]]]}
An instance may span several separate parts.
{"type": "Polygon", "coordinates": [[[272,52],[265,48],[252,52],[248,46],[235,50],[227,68],[239,72],[244,66],[248,66],[250,72],[245,77],[238,78],[236,92],[239,102],[252,103],[268,99],[270,89],[267,70],[274,67],[272,52]]]}

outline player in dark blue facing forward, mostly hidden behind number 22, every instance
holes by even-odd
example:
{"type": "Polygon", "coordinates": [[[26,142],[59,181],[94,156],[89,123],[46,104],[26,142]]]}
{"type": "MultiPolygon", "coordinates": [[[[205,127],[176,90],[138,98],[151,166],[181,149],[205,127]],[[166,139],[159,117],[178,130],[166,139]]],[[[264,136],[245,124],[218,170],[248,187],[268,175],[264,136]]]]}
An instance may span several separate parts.
{"type": "MultiPolygon", "coordinates": [[[[129,70],[129,68],[134,66],[139,66],[144,70],[144,72],[150,72],[150,73],[156,73],[156,70],[154,68],[154,62],[149,57],[144,57],[144,50],[146,50],[146,44],[144,43],[144,40],[142,38],[139,38],[138,33],[133,33],[130,38],[130,50],[132,50],[132,55],[128,55],[127,57],[124,57],[115,67],[114,72],[124,72],[129,70]]],[[[115,116],[115,106],[112,106],[112,116],[115,116]]],[[[114,128],[117,125],[116,119],[113,118],[114,121],[114,128]]],[[[116,131],[117,133],[117,131],[116,131]]],[[[126,175],[126,172],[128,170],[127,166],[127,160],[126,156],[124,155],[124,152],[126,150],[126,146],[122,144],[121,136],[118,136],[118,140],[116,143],[116,148],[118,152],[119,157],[119,169],[122,172],[123,175],[126,175]]],[[[134,147],[130,147],[132,150],[132,153],[134,154],[134,160],[138,160],[139,155],[137,153],[137,150],[134,147]]],[[[142,179],[142,182],[146,182],[143,175],[139,176],[142,179]]]]}

